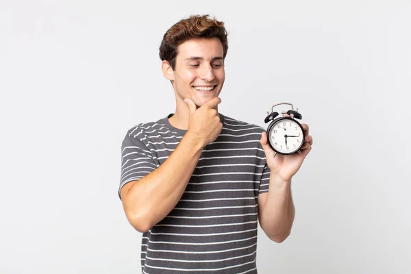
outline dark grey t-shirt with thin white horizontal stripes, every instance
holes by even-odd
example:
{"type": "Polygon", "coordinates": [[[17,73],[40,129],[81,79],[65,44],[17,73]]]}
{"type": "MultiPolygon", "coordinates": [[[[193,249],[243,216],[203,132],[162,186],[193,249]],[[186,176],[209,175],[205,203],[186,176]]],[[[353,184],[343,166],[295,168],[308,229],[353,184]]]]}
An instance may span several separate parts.
{"type": "MultiPolygon", "coordinates": [[[[169,158],[186,130],[169,117],[127,132],[120,188],[169,158]]],[[[175,208],[142,235],[142,273],[257,273],[258,194],[270,170],[260,145],[264,129],[220,114],[221,134],[201,152],[175,208]]]]}

